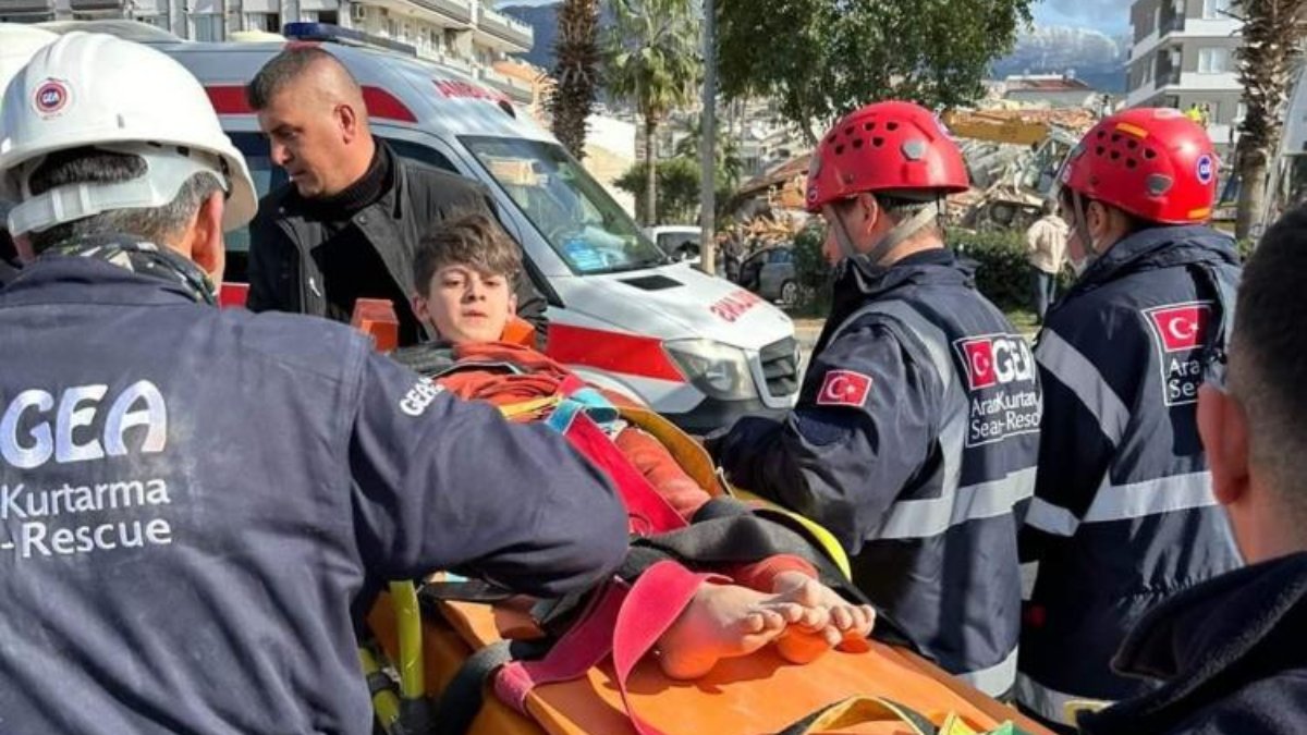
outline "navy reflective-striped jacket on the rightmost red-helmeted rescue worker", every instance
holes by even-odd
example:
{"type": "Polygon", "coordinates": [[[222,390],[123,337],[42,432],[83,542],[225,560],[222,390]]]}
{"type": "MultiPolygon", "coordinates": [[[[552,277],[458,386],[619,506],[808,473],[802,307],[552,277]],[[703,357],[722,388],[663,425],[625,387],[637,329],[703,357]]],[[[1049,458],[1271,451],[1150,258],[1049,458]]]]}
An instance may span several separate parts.
{"type": "Polygon", "coordinates": [[[1236,568],[1212,496],[1196,403],[1225,347],[1234,243],[1199,226],[1138,231],[1050,311],[1035,357],[1044,388],[1039,477],[1022,556],[1038,562],[1018,698],[1065,722],[1072,700],[1149,684],[1110,663],[1145,611],[1236,568]]]}

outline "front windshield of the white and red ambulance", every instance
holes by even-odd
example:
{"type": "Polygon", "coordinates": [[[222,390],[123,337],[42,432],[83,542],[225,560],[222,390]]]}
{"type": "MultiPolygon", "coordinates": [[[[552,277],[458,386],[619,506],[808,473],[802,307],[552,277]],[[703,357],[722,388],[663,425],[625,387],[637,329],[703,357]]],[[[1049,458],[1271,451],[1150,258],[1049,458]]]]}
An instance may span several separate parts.
{"type": "Polygon", "coordinates": [[[574,272],[616,273],[668,262],[559,145],[503,137],[461,140],[574,272]]]}

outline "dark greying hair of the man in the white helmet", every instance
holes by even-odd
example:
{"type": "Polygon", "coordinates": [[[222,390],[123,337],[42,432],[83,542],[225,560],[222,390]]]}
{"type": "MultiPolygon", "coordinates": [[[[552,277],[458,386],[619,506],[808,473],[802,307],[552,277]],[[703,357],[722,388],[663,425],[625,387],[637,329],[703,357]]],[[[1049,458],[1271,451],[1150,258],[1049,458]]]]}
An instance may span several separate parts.
{"type": "MultiPolygon", "coordinates": [[[[77,183],[120,183],[149,175],[145,160],[131,153],[95,148],[56,150],[27,177],[33,195],[77,183]]],[[[31,248],[41,252],[67,239],[91,234],[128,234],[156,245],[182,234],[195,212],[214,192],[222,191],[216,175],[195,174],[182,184],[173,201],[153,208],[114,209],[39,231],[27,233],[31,248]]]]}

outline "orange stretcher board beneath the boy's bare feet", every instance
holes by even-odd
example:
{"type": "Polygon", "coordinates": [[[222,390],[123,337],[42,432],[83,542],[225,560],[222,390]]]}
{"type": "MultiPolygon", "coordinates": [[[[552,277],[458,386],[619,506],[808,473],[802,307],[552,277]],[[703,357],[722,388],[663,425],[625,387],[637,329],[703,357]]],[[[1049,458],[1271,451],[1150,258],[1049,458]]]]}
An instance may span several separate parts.
{"type": "MultiPolygon", "coordinates": [[[[438,615],[421,623],[425,694],[438,697],[473,651],[503,640],[540,636],[521,606],[511,602],[440,602],[438,608],[438,615]]],[[[369,623],[386,655],[401,660],[396,620],[395,606],[384,596],[369,623]]],[[[625,735],[635,731],[629,713],[638,713],[669,735],[767,734],[784,732],[831,705],[835,709],[827,718],[835,722],[818,718],[796,732],[967,735],[1002,732],[1005,727],[1010,732],[1047,732],[920,657],[874,641],[865,653],[830,651],[802,666],[784,662],[769,647],[725,659],[695,681],[669,680],[646,658],[627,681],[629,709],[616,681],[608,659],[582,679],[537,687],[527,696],[525,714],[486,692],[468,732],[625,735]],[[914,723],[914,713],[933,730],[914,723]]]]}

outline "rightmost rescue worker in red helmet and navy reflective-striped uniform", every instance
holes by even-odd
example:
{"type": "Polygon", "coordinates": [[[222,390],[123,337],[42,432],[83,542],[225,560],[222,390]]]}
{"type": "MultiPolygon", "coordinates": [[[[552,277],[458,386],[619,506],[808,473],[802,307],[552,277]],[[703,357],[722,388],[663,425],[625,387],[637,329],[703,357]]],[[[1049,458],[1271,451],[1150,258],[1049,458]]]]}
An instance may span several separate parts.
{"type": "Polygon", "coordinates": [[[1206,352],[1223,347],[1239,277],[1208,228],[1217,160],[1174,110],[1098,123],[1061,173],[1080,277],[1050,311],[1039,477],[1022,535],[1038,561],[1018,700],[1050,722],[1068,704],[1146,684],[1111,671],[1148,608],[1240,564],[1195,425],[1206,352]]]}

